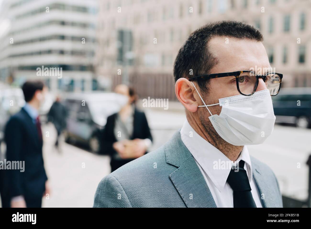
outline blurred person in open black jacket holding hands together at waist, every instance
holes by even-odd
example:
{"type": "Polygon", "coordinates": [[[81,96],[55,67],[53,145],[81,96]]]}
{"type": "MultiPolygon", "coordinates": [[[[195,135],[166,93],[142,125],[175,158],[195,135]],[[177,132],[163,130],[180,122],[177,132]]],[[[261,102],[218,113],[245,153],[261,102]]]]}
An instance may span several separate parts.
{"type": "Polygon", "coordinates": [[[152,144],[146,115],[135,106],[134,89],[120,84],[115,92],[124,96],[125,105],[107,118],[104,128],[102,150],[111,156],[111,172],[146,154],[152,144]]]}

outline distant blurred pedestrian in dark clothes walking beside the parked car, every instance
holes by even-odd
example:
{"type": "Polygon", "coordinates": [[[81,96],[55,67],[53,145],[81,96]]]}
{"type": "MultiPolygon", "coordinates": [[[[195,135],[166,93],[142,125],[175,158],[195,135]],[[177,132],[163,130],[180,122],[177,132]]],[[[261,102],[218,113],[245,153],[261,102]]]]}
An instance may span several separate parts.
{"type": "Polygon", "coordinates": [[[60,151],[59,136],[62,134],[63,130],[66,128],[66,118],[67,118],[67,109],[61,103],[60,96],[58,95],[48,113],[48,121],[53,122],[55,129],[57,131],[55,147],[59,151],[60,151]]]}

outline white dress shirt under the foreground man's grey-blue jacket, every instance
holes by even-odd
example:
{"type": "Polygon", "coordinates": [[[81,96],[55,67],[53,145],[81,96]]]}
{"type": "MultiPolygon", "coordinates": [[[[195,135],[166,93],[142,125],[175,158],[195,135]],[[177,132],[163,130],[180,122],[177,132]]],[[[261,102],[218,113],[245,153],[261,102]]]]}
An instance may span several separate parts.
{"type": "MultiPolygon", "coordinates": [[[[208,188],[215,200],[218,208],[233,208],[233,190],[227,183],[232,161],[227,158],[220,150],[202,138],[186,121],[180,130],[183,143],[193,155],[201,173],[207,183],[208,188]],[[227,165],[227,166],[224,166],[227,165]]],[[[243,150],[236,160],[245,161],[246,170],[252,195],[257,208],[262,208],[260,193],[253,179],[251,160],[247,147],[243,150]]]]}

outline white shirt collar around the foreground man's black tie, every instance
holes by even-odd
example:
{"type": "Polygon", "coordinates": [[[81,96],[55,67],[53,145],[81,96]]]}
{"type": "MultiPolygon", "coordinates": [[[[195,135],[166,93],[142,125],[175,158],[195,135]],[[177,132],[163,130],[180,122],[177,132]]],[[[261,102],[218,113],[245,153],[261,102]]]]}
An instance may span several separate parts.
{"type": "MultiPolygon", "coordinates": [[[[183,124],[183,127],[180,130],[180,135],[183,143],[193,155],[194,159],[202,167],[216,188],[221,192],[227,182],[232,161],[215,146],[202,138],[192,126],[190,126],[188,120],[183,124]]],[[[243,147],[236,162],[240,160],[245,161],[244,168],[246,168],[248,180],[251,182],[253,172],[246,146],[243,147]]]]}

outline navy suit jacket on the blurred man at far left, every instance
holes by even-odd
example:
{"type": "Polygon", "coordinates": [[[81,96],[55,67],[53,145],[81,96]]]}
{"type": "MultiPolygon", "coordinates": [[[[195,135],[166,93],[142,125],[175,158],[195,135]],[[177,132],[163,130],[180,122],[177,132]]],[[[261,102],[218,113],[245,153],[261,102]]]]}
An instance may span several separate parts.
{"type": "Polygon", "coordinates": [[[21,109],[13,115],[5,128],[7,161],[25,161],[25,171],[7,170],[8,197],[42,198],[45,181],[42,141],[29,114],[21,109]]]}

